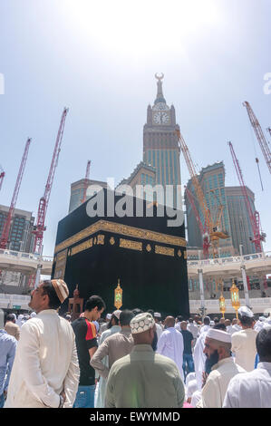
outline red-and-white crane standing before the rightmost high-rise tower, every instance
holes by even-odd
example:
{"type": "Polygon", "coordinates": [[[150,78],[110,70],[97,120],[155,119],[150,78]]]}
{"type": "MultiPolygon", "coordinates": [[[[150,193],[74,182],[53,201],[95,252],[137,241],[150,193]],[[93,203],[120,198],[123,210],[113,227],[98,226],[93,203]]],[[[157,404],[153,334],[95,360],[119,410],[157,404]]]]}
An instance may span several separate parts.
{"type": "Polygon", "coordinates": [[[240,187],[242,189],[242,194],[243,194],[243,197],[245,198],[245,201],[246,201],[248,217],[249,217],[249,220],[250,220],[251,228],[253,230],[253,238],[250,237],[250,240],[255,245],[256,253],[259,253],[259,252],[262,251],[261,241],[266,240],[265,239],[266,234],[264,234],[260,231],[260,215],[259,215],[259,212],[258,211],[255,211],[254,213],[252,212],[252,208],[251,208],[248,196],[247,196],[247,187],[244,183],[242,170],[240,168],[239,161],[237,160],[235,150],[233,149],[231,142],[228,142],[228,145],[229,145],[232,160],[233,160],[236,172],[237,172],[237,178],[239,180],[239,184],[240,184],[240,187]]]}

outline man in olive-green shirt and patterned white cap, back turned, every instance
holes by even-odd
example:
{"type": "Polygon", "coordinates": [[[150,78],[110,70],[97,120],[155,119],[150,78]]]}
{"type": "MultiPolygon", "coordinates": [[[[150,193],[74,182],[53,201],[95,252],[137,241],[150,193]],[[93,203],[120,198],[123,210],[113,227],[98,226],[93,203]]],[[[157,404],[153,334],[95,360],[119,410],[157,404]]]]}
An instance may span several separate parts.
{"type": "Polygon", "coordinates": [[[131,320],[134,347],[111,366],[106,408],[181,408],[185,398],[179,369],[155,353],[156,325],[150,313],[131,320]]]}

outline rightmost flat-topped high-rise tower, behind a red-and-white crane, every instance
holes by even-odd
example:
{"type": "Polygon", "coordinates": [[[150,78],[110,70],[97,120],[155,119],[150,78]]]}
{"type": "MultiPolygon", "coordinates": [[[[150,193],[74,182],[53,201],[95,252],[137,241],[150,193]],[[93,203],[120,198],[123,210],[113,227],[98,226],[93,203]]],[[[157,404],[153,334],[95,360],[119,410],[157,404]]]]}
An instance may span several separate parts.
{"type": "MultiPolygon", "coordinates": [[[[247,188],[247,187],[246,187],[247,188]]],[[[242,253],[248,255],[256,252],[256,248],[250,238],[253,238],[253,229],[251,227],[246,200],[243,196],[241,187],[227,187],[225,189],[227,198],[228,217],[233,246],[237,253],[242,245],[242,253]]],[[[247,188],[247,198],[250,203],[252,213],[255,212],[254,193],[247,188]]],[[[240,253],[239,253],[240,254],[240,253]]]]}

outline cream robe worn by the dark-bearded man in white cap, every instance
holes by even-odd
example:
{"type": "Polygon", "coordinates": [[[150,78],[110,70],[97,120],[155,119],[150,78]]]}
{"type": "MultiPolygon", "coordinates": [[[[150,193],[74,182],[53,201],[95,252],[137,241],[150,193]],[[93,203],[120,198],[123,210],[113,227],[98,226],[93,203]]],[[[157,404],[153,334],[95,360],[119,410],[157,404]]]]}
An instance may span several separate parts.
{"type": "Polygon", "coordinates": [[[218,361],[212,367],[211,373],[201,390],[201,401],[198,406],[203,408],[222,408],[227,392],[227,385],[238,373],[245,370],[234,362],[232,357],[218,361]]]}

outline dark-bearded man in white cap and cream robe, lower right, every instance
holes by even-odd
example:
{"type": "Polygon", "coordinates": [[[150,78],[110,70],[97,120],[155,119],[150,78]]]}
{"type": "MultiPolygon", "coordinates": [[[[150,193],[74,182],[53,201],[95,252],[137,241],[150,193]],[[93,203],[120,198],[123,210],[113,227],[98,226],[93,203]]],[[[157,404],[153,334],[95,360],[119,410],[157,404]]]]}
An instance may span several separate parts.
{"type": "Polygon", "coordinates": [[[230,348],[230,334],[212,328],[208,330],[204,353],[207,356],[205,371],[210,373],[202,388],[198,408],[222,408],[229,381],[236,374],[245,373],[245,370],[234,362],[230,348]]]}

